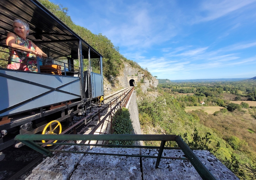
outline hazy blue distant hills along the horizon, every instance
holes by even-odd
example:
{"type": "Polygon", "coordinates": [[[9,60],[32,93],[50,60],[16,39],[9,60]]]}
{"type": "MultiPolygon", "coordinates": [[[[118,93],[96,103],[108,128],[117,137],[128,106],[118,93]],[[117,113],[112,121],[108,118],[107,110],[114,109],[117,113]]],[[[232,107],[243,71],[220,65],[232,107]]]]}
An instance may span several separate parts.
{"type": "Polygon", "coordinates": [[[169,80],[169,79],[158,79],[159,83],[168,83],[168,82],[216,82],[216,81],[242,81],[245,79],[254,80],[253,78],[219,78],[219,79],[183,79],[183,80],[169,80]]]}

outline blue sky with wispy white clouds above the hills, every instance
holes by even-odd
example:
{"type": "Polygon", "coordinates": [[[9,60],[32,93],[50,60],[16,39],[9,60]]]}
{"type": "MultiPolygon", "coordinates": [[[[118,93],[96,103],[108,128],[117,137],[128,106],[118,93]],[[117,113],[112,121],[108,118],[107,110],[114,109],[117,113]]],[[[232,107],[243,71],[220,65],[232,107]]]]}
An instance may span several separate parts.
{"type": "Polygon", "coordinates": [[[159,79],[256,76],[256,0],[51,0],[159,79]]]}

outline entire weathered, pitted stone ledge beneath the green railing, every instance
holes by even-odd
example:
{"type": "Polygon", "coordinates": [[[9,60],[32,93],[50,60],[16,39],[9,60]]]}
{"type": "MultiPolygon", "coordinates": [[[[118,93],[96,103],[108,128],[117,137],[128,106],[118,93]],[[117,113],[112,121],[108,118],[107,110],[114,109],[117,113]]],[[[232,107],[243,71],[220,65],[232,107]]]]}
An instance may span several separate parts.
{"type": "MultiPolygon", "coordinates": [[[[74,146],[70,149],[74,150],[74,146]]],[[[142,154],[157,156],[156,149],[140,148],[92,148],[89,152],[114,154],[142,154]]],[[[196,156],[216,179],[239,180],[213,154],[207,150],[194,150],[196,156]]],[[[184,157],[181,150],[164,150],[162,156],[184,157]]],[[[82,155],[59,153],[45,159],[38,165],[27,180],[80,180],[80,179],[120,179],[120,180],[165,180],[192,179],[201,177],[187,160],[161,159],[159,168],[155,169],[156,158],[140,158],[110,156],[110,155],[82,155]]]]}

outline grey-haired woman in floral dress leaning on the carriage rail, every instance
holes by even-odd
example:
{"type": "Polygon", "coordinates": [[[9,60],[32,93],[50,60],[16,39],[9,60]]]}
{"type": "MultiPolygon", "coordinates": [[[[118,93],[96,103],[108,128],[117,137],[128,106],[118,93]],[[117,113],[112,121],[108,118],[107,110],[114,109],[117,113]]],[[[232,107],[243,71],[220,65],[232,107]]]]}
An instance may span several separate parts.
{"type": "Polygon", "coordinates": [[[26,39],[29,33],[27,22],[16,19],[13,27],[15,34],[9,32],[6,39],[7,46],[13,47],[10,49],[9,57],[11,64],[8,64],[7,68],[37,72],[36,57],[47,57],[47,55],[33,42],[26,39]]]}

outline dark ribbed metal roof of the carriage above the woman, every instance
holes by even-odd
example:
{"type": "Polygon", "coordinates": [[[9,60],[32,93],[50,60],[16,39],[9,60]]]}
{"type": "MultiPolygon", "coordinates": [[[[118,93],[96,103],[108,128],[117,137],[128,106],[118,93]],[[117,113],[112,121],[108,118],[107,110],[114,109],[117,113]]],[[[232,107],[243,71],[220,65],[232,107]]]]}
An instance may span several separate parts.
{"type": "Polygon", "coordinates": [[[85,40],[72,31],[59,18],[52,14],[37,0],[1,0],[0,1],[0,43],[5,44],[8,32],[14,32],[13,20],[27,21],[30,33],[27,39],[50,48],[52,57],[78,54],[78,41],[81,40],[82,55],[99,58],[102,55],[85,40]]]}

